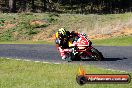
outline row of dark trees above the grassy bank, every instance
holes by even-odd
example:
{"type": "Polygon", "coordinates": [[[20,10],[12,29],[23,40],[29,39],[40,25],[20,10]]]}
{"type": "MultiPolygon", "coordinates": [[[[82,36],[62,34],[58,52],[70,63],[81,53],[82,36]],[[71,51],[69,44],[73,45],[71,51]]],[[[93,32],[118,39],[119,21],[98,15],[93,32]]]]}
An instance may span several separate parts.
{"type": "Polygon", "coordinates": [[[0,0],[0,12],[113,14],[132,11],[132,0],[0,0]]]}

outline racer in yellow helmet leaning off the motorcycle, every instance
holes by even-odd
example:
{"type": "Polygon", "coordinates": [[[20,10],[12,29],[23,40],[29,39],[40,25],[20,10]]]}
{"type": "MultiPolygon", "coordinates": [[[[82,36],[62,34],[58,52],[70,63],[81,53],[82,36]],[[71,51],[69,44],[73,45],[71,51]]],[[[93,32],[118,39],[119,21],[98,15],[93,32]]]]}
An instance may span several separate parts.
{"type": "Polygon", "coordinates": [[[72,44],[74,38],[77,36],[78,34],[75,33],[75,31],[72,31],[71,33],[69,31],[66,31],[64,28],[60,28],[57,32],[56,32],[56,45],[57,48],[60,52],[60,55],[62,57],[63,60],[66,59],[66,55],[65,52],[67,51],[71,51],[69,46],[70,44],[72,44]]]}

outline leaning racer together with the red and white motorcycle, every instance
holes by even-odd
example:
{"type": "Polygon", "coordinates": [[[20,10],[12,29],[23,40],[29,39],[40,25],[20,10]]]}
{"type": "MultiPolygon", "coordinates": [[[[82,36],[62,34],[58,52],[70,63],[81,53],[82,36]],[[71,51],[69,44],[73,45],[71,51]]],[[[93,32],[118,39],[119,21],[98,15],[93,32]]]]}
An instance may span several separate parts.
{"type": "Polygon", "coordinates": [[[56,32],[56,45],[63,60],[96,60],[104,59],[102,53],[92,46],[85,33],[69,32],[64,28],[56,32]]]}

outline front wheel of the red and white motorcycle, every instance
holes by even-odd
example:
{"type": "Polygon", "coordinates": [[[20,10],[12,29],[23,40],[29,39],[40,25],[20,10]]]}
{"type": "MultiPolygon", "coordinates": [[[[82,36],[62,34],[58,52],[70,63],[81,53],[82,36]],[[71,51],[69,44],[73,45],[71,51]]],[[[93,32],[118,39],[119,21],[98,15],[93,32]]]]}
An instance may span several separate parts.
{"type": "Polygon", "coordinates": [[[101,61],[104,59],[103,55],[101,52],[99,52],[97,49],[95,48],[92,48],[91,49],[91,52],[92,52],[92,55],[91,55],[91,58],[96,60],[96,61],[101,61]]]}

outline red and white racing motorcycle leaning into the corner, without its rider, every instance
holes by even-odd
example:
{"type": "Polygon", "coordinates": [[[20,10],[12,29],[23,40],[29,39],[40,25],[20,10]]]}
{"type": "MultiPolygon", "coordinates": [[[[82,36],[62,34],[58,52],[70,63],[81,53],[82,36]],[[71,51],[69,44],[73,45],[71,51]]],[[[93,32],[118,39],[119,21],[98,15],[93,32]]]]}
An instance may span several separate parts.
{"type": "Polygon", "coordinates": [[[65,51],[67,59],[74,60],[87,60],[92,59],[101,61],[104,59],[101,52],[92,46],[92,42],[83,34],[76,36],[72,43],[69,42],[70,51],[65,51]]]}

